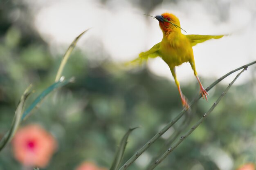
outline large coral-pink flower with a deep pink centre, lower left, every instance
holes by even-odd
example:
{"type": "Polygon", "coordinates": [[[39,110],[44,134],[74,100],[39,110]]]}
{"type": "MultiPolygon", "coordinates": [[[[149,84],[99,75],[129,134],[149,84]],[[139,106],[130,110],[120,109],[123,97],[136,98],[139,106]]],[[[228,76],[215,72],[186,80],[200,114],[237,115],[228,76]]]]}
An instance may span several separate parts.
{"type": "Polygon", "coordinates": [[[14,157],[20,163],[39,168],[47,166],[57,147],[54,137],[37,124],[20,128],[12,144],[14,157]]]}

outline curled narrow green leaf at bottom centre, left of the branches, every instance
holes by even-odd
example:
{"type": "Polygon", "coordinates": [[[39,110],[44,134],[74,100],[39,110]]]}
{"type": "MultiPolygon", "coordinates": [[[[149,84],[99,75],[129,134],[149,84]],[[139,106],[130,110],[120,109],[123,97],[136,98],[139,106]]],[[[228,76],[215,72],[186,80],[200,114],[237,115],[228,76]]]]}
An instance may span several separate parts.
{"type": "Polygon", "coordinates": [[[124,135],[123,139],[121,140],[120,142],[120,146],[118,147],[118,150],[117,150],[117,153],[116,153],[116,156],[115,156],[115,159],[112,163],[112,166],[110,168],[110,170],[117,170],[117,168],[119,167],[122,159],[123,159],[123,156],[124,156],[124,150],[126,148],[126,144],[127,144],[127,139],[130,135],[130,133],[132,132],[132,130],[135,130],[136,128],[139,128],[140,126],[138,127],[135,127],[135,128],[130,128],[126,134],[124,135]]]}

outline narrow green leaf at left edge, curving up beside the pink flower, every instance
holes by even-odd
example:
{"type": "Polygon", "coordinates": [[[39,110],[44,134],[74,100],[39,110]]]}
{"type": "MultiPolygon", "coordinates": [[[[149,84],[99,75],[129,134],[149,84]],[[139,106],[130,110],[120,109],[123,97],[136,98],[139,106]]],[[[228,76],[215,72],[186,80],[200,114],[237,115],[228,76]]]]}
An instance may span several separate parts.
{"type": "Polygon", "coordinates": [[[11,124],[11,129],[2,137],[0,141],[0,151],[11,141],[12,137],[14,136],[16,130],[18,129],[18,126],[20,125],[21,122],[21,116],[22,116],[22,111],[23,107],[25,104],[25,101],[27,97],[31,94],[31,85],[25,90],[23,95],[20,97],[20,102],[16,108],[15,115],[13,117],[13,121],[11,124]]]}

